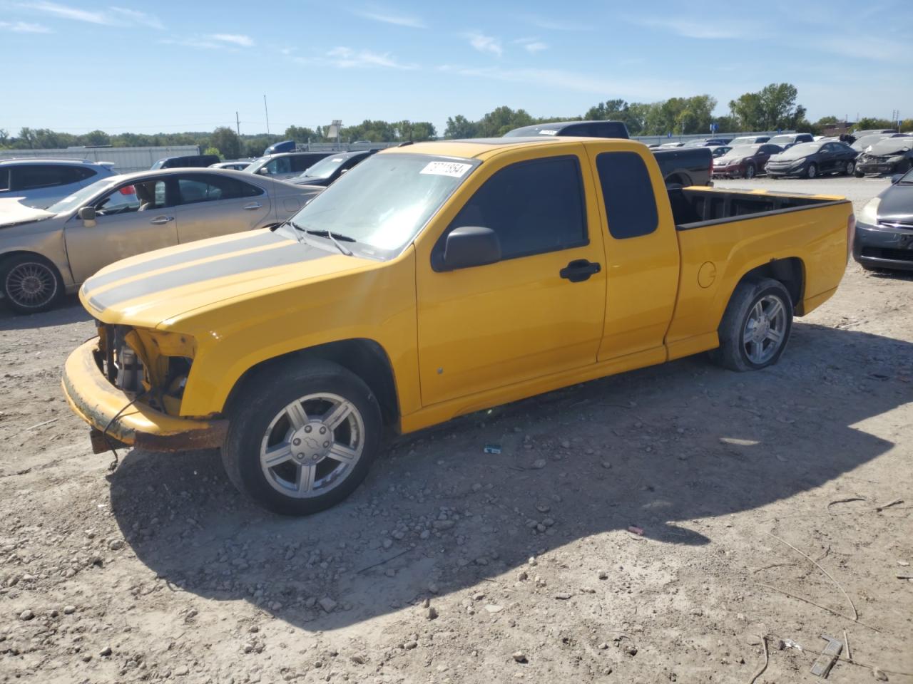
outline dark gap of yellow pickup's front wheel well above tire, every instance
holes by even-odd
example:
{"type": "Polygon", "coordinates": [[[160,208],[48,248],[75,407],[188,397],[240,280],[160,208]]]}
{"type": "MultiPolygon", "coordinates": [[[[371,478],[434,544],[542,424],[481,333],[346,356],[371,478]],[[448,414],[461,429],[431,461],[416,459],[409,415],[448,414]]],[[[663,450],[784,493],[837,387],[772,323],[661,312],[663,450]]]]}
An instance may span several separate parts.
{"type": "Polygon", "coordinates": [[[394,380],[393,365],[386,351],[372,339],[344,339],[337,342],[328,342],[317,347],[300,349],[280,357],[269,358],[261,361],[247,371],[235,383],[235,387],[226,400],[226,407],[236,397],[236,393],[250,378],[268,369],[275,368],[292,360],[307,358],[321,358],[339,364],[342,368],[352,371],[371,389],[377,402],[381,406],[383,422],[393,425],[399,420],[399,400],[396,397],[396,382],[394,380]]]}

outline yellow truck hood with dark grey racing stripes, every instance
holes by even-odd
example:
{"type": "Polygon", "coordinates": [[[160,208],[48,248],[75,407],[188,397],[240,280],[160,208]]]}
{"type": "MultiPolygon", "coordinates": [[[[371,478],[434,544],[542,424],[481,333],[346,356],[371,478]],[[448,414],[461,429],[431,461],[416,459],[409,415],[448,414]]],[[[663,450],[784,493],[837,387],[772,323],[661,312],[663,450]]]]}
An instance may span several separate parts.
{"type": "Polygon", "coordinates": [[[216,237],[110,264],[82,285],[79,297],[104,323],[167,327],[196,309],[377,264],[328,249],[267,228],[216,237]]]}

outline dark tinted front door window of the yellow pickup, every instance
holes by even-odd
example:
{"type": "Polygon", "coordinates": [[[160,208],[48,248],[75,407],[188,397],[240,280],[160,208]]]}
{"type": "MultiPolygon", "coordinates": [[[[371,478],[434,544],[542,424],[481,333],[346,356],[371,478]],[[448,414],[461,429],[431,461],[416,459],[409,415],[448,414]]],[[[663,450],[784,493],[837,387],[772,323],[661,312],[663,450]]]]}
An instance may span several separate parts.
{"type": "MultiPolygon", "coordinates": [[[[484,226],[498,233],[501,258],[587,244],[576,157],[521,161],[485,181],[447,230],[484,226]]],[[[446,234],[446,233],[445,233],[446,234]]]]}

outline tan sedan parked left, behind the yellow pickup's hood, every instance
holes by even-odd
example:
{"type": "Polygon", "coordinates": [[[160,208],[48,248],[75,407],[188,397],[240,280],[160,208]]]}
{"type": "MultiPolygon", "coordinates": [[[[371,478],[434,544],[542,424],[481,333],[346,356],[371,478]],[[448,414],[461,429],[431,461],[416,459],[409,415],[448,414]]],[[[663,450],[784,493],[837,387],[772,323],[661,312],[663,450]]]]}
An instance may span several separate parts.
{"type": "Polygon", "coordinates": [[[243,171],[180,169],[112,176],[47,210],[11,202],[0,207],[0,294],[17,313],[43,311],[104,265],[282,223],[317,192],[243,171]]]}

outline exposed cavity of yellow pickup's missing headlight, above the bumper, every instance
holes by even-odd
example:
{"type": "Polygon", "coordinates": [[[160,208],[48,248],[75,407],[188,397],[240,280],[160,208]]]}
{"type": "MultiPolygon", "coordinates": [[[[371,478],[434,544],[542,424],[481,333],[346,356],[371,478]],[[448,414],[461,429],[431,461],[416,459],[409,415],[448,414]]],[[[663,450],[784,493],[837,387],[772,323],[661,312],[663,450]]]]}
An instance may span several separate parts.
{"type": "Polygon", "coordinates": [[[196,342],[187,335],[100,324],[95,360],[132,399],[178,416],[195,352],[196,342]]]}

